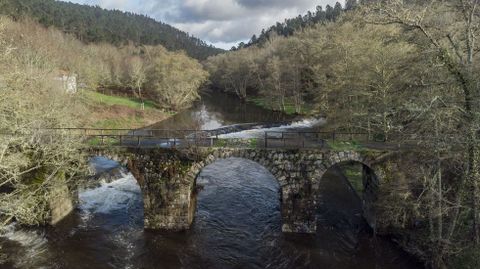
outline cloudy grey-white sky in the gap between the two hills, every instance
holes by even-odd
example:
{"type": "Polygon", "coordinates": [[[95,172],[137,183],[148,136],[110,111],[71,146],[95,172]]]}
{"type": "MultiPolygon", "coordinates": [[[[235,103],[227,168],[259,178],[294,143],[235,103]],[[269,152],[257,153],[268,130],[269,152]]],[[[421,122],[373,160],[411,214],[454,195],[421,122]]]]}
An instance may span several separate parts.
{"type": "MultiPolygon", "coordinates": [[[[277,21],[336,0],[70,0],[145,14],[230,49],[277,21]]],[[[340,0],[343,4],[343,0],[340,0]]]]}

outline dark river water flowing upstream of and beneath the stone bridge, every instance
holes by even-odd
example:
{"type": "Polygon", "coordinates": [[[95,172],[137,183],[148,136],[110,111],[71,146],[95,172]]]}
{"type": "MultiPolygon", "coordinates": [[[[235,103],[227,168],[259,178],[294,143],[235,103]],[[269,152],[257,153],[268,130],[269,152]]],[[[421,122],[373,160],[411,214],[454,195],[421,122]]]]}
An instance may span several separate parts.
{"type": "MultiPolygon", "coordinates": [[[[213,129],[291,120],[237,107],[227,96],[216,99],[222,101],[204,98],[155,127],[213,129]]],[[[317,123],[302,120],[281,128],[316,128],[317,123]]],[[[97,158],[92,165],[102,171],[116,163],[97,158]]],[[[217,161],[204,168],[197,184],[202,190],[191,230],[144,231],[140,188],[123,171],[117,180],[80,190],[77,210],[57,227],[10,225],[0,234],[0,253],[7,259],[0,268],[422,268],[389,240],[372,236],[361,202],[340,169],[322,179],[316,235],[281,232],[280,187],[254,162],[217,161]]]]}

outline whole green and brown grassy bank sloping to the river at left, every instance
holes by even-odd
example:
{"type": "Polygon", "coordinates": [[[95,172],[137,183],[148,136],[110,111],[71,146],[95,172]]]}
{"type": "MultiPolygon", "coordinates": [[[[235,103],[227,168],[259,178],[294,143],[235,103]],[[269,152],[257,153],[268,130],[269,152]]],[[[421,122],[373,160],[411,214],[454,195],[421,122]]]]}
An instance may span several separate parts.
{"type": "Polygon", "coordinates": [[[84,91],[82,99],[89,116],[84,124],[89,128],[129,129],[140,128],[162,121],[172,115],[158,108],[153,101],[105,95],[95,91],[84,91]]]}

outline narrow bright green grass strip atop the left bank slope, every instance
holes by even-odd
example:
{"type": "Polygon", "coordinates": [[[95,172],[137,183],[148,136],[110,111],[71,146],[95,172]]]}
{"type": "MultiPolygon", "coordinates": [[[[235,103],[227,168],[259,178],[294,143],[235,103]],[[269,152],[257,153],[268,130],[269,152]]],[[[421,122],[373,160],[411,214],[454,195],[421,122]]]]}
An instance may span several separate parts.
{"type": "MultiPolygon", "coordinates": [[[[111,96],[105,95],[95,91],[85,91],[84,92],[87,99],[92,100],[98,104],[106,105],[106,106],[125,106],[133,109],[141,109],[142,102],[136,98],[128,98],[128,97],[120,97],[120,96],[111,96]]],[[[145,109],[157,109],[157,106],[153,101],[145,100],[145,109]]]]}

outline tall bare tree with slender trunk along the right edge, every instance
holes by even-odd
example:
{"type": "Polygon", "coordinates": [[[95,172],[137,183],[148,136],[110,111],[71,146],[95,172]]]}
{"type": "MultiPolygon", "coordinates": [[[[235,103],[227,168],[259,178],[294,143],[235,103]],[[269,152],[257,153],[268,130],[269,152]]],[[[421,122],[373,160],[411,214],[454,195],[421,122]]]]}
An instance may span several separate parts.
{"type": "Polygon", "coordinates": [[[473,238],[480,245],[480,154],[478,148],[479,84],[477,74],[480,16],[478,0],[438,1],[428,0],[407,4],[401,0],[385,1],[374,6],[373,23],[398,24],[407,31],[424,37],[419,46],[434,49],[442,63],[439,68],[448,70],[463,93],[463,129],[466,137],[468,159],[467,180],[471,186],[473,238]]]}

